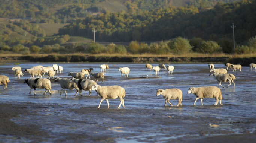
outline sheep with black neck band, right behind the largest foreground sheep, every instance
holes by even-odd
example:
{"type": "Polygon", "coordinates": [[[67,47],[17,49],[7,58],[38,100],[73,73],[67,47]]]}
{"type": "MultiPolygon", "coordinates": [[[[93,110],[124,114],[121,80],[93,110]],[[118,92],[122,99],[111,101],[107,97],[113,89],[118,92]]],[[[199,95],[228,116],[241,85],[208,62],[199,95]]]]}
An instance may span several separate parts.
{"type": "Polygon", "coordinates": [[[89,91],[89,95],[88,96],[90,96],[91,95],[91,87],[92,87],[92,85],[95,85],[95,84],[97,85],[97,83],[94,82],[93,80],[90,80],[90,79],[75,79],[74,77],[72,79],[70,79],[68,82],[76,83],[77,87],[79,88],[79,95],[80,96],[83,96],[82,95],[82,90],[89,91]]]}

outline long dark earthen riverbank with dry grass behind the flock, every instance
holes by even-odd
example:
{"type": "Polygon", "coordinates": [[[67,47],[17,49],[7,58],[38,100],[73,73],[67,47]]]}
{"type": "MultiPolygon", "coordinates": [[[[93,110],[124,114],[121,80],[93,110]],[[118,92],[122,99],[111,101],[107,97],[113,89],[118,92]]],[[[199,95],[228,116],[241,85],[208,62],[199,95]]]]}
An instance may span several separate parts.
{"type": "Polygon", "coordinates": [[[0,57],[1,62],[193,62],[193,63],[225,63],[229,57],[94,57],[76,55],[48,55],[45,57],[36,56],[9,56],[0,57]]]}

